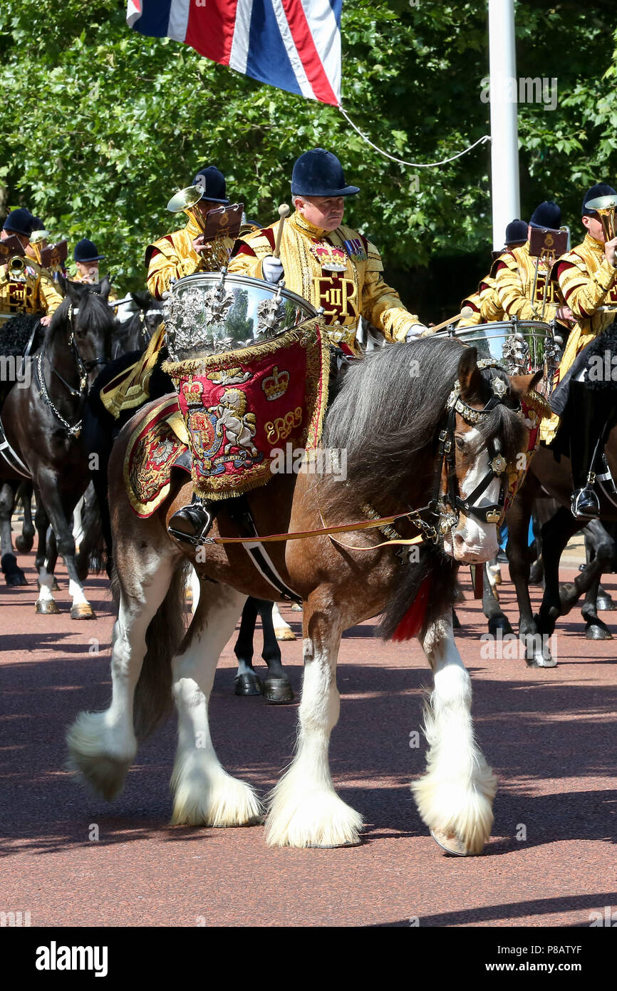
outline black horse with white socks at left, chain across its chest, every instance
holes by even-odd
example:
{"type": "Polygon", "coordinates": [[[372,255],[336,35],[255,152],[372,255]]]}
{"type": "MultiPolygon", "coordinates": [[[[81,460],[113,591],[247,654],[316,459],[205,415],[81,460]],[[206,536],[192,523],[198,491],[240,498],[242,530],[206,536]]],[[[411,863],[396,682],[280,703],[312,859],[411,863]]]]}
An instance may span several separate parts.
{"type": "MultiPolygon", "coordinates": [[[[71,618],[83,619],[91,618],[93,612],[75,568],[71,533],[73,509],[89,482],[81,416],[88,385],[109,361],[115,320],[107,305],[108,279],[102,280],[100,293],[85,283],[63,279],[61,284],[65,298],[53,314],[41,347],[29,359],[31,381],[26,388],[9,391],[1,415],[10,447],[27,467],[37,495],[40,550],[36,564],[41,590],[37,611],[57,611],[51,592],[52,565],[46,558],[49,520],[68,572],[71,618]]],[[[18,477],[5,457],[0,463],[0,481],[18,477]]]]}

